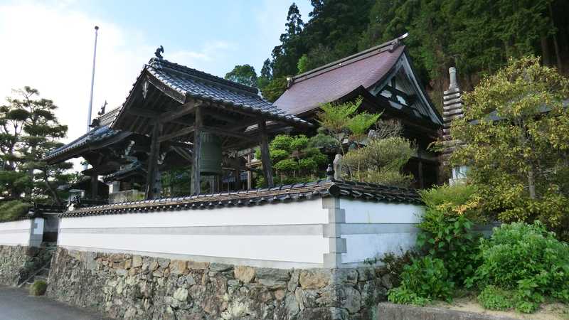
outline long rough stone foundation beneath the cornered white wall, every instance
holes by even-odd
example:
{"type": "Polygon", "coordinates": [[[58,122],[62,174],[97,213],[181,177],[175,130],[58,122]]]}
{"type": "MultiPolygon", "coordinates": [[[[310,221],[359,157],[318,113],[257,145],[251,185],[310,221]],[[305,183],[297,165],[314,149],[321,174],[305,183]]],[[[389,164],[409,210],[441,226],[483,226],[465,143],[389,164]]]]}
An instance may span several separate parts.
{"type": "Polygon", "coordinates": [[[380,268],[279,270],[58,248],[48,295],[120,319],[372,319],[380,268]]]}

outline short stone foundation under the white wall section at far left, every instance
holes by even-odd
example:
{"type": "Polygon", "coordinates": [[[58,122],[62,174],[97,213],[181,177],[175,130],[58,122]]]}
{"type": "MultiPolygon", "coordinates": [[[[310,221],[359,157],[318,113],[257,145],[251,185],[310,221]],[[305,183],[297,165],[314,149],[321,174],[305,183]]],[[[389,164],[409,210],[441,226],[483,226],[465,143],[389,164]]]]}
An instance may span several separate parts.
{"type": "Polygon", "coordinates": [[[18,285],[46,265],[52,253],[46,247],[0,245],[0,284],[18,285]]]}

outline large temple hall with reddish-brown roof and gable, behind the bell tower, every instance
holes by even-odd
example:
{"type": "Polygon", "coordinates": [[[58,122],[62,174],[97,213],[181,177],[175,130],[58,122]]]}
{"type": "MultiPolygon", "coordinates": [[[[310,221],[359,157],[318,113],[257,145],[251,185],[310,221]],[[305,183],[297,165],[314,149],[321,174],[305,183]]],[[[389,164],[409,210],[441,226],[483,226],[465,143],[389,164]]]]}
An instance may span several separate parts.
{"type": "Polygon", "coordinates": [[[425,188],[439,182],[439,159],[427,146],[439,137],[442,117],[413,71],[403,38],[289,78],[275,105],[310,121],[323,103],[362,97],[362,110],[398,119],[405,137],[417,143],[405,170],[415,176],[415,187],[425,188]]]}

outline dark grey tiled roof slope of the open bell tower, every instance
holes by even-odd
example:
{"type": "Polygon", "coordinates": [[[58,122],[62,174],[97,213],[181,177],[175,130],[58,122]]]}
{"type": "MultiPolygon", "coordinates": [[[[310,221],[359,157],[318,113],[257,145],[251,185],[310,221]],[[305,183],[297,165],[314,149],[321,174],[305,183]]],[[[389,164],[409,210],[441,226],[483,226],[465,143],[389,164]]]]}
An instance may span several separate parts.
{"type": "Polygon", "coordinates": [[[233,105],[287,122],[307,124],[258,95],[255,87],[225,80],[168,60],[151,58],[145,67],[156,79],[181,95],[233,105]]]}

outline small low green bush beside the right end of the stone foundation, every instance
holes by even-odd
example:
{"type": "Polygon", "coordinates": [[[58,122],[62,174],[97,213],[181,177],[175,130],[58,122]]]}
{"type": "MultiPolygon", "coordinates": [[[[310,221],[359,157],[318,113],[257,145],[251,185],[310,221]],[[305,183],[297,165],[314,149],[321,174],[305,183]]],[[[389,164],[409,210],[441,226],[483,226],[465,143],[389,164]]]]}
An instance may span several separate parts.
{"type": "Polygon", "coordinates": [[[389,291],[390,302],[423,306],[433,299],[452,300],[454,282],[440,259],[427,256],[413,260],[400,277],[400,286],[389,291]]]}

